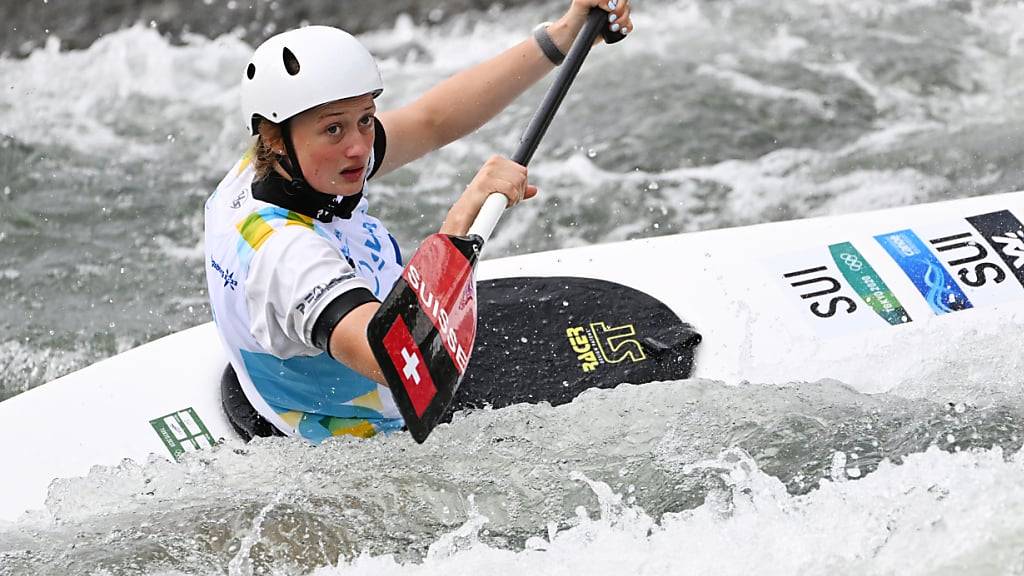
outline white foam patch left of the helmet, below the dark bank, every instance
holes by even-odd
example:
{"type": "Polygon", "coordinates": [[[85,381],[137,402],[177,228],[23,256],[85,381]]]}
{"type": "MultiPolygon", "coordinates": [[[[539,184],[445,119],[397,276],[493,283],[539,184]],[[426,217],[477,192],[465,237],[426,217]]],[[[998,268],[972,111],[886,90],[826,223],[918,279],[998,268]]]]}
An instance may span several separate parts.
{"type": "MultiPolygon", "coordinates": [[[[236,119],[239,71],[250,50],[229,36],[189,37],[184,46],[172,46],[140,25],[84,50],[61,52],[50,42],[23,60],[0,58],[7,88],[0,95],[0,125],[29,145],[160,158],[200,111],[236,119]]],[[[241,120],[234,124],[225,125],[218,139],[241,138],[241,120]]]]}

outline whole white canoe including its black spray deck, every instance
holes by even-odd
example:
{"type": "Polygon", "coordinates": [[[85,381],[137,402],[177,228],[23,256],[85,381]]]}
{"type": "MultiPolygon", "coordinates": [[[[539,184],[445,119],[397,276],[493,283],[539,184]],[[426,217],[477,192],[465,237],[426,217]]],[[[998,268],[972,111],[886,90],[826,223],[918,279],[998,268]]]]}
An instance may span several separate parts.
{"type": "MultiPolygon", "coordinates": [[[[1020,354],[1022,221],[1010,193],[484,260],[455,407],[692,377],[991,381],[956,359],[1020,354]]],[[[0,520],[42,508],[53,479],[239,439],[226,364],[208,323],[0,403],[0,456],[18,470],[0,520]]]]}

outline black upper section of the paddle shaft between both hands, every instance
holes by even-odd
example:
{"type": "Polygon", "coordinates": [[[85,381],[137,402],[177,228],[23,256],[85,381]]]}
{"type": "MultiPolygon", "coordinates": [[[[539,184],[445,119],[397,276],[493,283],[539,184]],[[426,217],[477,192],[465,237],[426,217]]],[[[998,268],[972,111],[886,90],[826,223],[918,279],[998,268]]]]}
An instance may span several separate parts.
{"type": "Polygon", "coordinates": [[[569,53],[565,55],[565,60],[558,69],[558,76],[555,77],[554,84],[551,85],[548,93],[544,95],[541,107],[537,109],[537,113],[530,119],[529,125],[526,126],[526,131],[523,132],[522,139],[519,141],[519,148],[512,155],[513,162],[521,166],[529,164],[530,159],[534,158],[534,153],[537,152],[537,147],[541,145],[541,138],[548,131],[551,120],[555,117],[555,113],[558,112],[558,107],[561,106],[565,94],[568,93],[569,86],[572,85],[577,74],[580,73],[583,60],[587,58],[591,47],[594,46],[594,41],[597,40],[597,36],[601,34],[601,30],[607,22],[608,16],[604,10],[591,8],[590,14],[587,15],[587,24],[580,31],[580,35],[577,36],[575,41],[572,42],[569,53]]]}

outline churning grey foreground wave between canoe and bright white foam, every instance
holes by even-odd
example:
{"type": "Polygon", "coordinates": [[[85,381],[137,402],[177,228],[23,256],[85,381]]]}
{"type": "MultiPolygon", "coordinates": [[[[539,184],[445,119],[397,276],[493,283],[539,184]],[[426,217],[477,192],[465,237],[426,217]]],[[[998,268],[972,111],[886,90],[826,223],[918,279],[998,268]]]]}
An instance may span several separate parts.
{"type": "Polygon", "coordinates": [[[46,515],[0,528],[0,554],[48,572],[202,572],[243,557],[236,562],[254,572],[360,554],[429,564],[481,545],[515,556],[585,525],[591,513],[580,506],[629,526],[642,525],[633,508],[653,519],[756,518],[769,496],[791,502],[859,484],[929,447],[1016,452],[1022,419],[1020,407],[865,396],[835,382],[622,385],[554,408],[462,413],[424,445],[404,435],[318,448],[264,439],[180,463],[97,467],[55,482],[46,515]],[[856,482],[839,482],[852,480],[836,474],[840,452],[844,470],[858,468],[856,482]],[[38,536],[16,536],[27,530],[38,536]],[[136,544],[143,540],[163,551],[136,544]]]}

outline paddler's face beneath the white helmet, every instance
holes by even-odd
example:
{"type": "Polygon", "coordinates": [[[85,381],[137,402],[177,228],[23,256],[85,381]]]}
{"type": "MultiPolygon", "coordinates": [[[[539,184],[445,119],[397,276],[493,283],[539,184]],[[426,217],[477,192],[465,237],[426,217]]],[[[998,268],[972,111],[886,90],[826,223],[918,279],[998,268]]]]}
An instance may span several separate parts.
{"type": "Polygon", "coordinates": [[[376,112],[373,96],[364,94],[296,116],[292,120],[292,141],[306,181],[336,196],[351,196],[362,190],[374,148],[376,112]]]}

